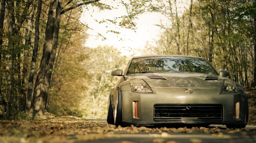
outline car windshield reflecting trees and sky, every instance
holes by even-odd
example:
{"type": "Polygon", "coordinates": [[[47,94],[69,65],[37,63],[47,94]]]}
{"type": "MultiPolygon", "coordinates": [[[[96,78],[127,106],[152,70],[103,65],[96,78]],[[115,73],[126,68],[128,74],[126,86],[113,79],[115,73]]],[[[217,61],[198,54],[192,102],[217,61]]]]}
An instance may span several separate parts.
{"type": "Polygon", "coordinates": [[[127,74],[132,73],[147,73],[147,72],[161,72],[161,73],[204,73],[217,74],[210,64],[205,59],[200,58],[137,58],[133,59],[127,74]]]}

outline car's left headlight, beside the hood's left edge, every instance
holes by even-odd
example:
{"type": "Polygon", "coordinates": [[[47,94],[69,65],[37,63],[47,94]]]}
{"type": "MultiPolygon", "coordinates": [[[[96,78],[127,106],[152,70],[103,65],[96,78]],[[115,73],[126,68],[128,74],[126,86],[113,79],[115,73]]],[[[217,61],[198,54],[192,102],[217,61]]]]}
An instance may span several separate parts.
{"type": "Polygon", "coordinates": [[[142,79],[130,81],[132,92],[153,93],[149,85],[142,79]]]}

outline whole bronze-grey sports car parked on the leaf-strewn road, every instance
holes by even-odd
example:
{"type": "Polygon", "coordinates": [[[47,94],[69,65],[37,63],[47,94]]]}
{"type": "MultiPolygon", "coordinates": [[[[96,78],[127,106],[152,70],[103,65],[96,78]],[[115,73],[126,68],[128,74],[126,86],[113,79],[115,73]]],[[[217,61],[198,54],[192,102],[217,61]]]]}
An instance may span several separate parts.
{"type": "Polygon", "coordinates": [[[180,55],[133,57],[110,92],[109,124],[210,125],[244,128],[248,102],[241,85],[204,58],[180,55]]]}

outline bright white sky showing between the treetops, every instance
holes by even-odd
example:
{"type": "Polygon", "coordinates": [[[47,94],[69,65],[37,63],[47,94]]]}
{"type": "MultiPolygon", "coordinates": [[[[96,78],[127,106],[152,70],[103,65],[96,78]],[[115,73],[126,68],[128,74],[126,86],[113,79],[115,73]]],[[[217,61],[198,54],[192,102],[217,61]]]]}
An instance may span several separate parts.
{"type": "Polygon", "coordinates": [[[88,27],[93,30],[88,30],[87,33],[90,34],[89,39],[85,43],[88,47],[98,47],[103,45],[113,46],[123,53],[124,55],[143,55],[139,53],[139,49],[143,49],[147,43],[154,45],[158,36],[163,30],[155,24],[159,24],[160,20],[163,20],[163,16],[159,13],[144,13],[139,16],[138,19],[133,20],[136,25],[136,32],[131,29],[120,28],[110,23],[101,23],[97,21],[102,21],[103,19],[111,19],[127,15],[126,9],[123,4],[120,4],[120,0],[112,1],[101,0],[102,3],[111,4],[113,7],[118,7],[118,9],[98,11],[95,7],[88,6],[88,11],[84,11],[81,21],[88,24],[88,27]],[[118,6],[117,6],[118,5],[118,6]],[[114,34],[113,32],[108,32],[110,30],[121,32],[120,34],[114,34]],[[106,39],[103,39],[101,34],[106,39]]]}

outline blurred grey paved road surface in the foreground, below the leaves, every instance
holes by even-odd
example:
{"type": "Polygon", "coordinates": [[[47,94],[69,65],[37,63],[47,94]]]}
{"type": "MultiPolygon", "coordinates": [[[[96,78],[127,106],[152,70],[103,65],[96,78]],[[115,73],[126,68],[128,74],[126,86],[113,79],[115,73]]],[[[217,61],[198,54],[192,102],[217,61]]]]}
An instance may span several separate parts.
{"type": "MultiPolygon", "coordinates": [[[[90,120],[89,122],[106,123],[105,120],[90,120]]],[[[226,129],[225,125],[210,125],[208,128],[218,127],[226,129]]],[[[129,134],[128,132],[115,132],[108,138],[77,143],[256,143],[256,125],[247,125],[242,132],[235,134],[204,134],[202,132],[192,133],[158,133],[139,132],[129,134]]]]}

